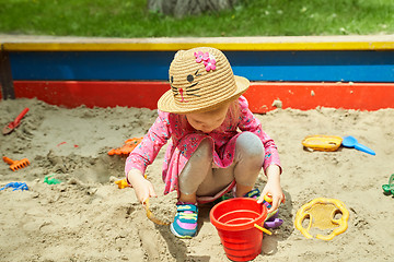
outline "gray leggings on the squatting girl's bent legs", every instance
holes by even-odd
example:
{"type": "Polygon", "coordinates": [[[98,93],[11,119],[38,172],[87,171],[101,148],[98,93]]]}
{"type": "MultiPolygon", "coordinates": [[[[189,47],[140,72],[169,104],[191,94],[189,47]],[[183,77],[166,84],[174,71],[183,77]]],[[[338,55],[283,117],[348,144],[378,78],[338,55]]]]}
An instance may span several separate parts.
{"type": "Polygon", "coordinates": [[[233,163],[227,168],[212,167],[212,146],[202,140],[182,170],[178,182],[184,194],[211,196],[229,186],[234,179],[242,186],[253,187],[264,163],[264,146],[259,138],[243,132],[235,142],[233,163]]]}

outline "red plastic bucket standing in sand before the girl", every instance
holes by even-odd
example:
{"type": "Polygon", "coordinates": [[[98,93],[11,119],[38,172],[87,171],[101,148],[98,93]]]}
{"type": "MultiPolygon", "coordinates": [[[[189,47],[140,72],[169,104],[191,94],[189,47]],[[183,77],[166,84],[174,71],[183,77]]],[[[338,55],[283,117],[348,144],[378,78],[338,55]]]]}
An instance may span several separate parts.
{"type": "Polygon", "coordinates": [[[215,205],[209,213],[217,228],[227,257],[233,261],[248,261],[262,252],[262,226],[267,207],[255,199],[236,198],[215,205]]]}

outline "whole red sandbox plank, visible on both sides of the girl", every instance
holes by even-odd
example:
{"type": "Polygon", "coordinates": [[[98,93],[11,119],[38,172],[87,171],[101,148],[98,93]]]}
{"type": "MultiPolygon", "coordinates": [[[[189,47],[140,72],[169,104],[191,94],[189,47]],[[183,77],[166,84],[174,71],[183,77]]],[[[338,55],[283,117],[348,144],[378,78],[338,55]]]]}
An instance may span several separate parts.
{"type": "MultiPolygon", "coordinates": [[[[15,96],[37,97],[65,107],[157,108],[170,88],[165,82],[14,81],[15,96]]],[[[253,112],[282,108],[308,110],[317,106],[378,110],[394,108],[394,83],[280,83],[255,82],[246,92],[253,112]],[[280,102],[280,103],[279,103],[280,102]]]]}

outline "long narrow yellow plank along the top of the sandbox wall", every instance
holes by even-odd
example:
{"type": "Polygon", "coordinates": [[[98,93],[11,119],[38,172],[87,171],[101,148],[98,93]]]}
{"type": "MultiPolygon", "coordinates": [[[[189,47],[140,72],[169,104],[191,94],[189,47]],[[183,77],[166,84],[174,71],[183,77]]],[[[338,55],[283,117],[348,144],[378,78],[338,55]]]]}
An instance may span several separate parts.
{"type": "Polygon", "coordinates": [[[7,51],[176,51],[211,46],[224,51],[394,50],[394,41],[322,43],[3,43],[7,51]]]}

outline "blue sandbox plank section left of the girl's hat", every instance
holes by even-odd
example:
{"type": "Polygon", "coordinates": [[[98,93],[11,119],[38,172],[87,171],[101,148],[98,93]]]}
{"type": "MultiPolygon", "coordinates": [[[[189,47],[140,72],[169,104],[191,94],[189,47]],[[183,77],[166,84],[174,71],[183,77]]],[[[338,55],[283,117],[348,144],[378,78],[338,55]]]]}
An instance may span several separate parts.
{"type": "Polygon", "coordinates": [[[14,80],[166,80],[167,52],[15,52],[14,80]]]}

